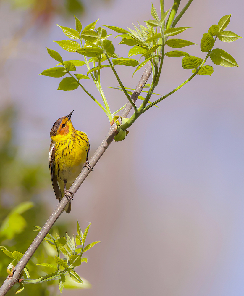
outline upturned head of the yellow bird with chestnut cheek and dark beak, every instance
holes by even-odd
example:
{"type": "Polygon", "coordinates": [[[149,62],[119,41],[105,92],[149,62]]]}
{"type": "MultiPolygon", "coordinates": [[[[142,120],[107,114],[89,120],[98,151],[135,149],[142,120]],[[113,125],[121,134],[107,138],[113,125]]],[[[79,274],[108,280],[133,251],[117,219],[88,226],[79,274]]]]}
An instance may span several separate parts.
{"type": "Polygon", "coordinates": [[[59,118],[54,123],[50,132],[50,137],[53,141],[56,142],[68,138],[70,135],[74,133],[75,128],[73,127],[70,119],[73,112],[74,110],[70,112],[69,115],[59,118]]]}

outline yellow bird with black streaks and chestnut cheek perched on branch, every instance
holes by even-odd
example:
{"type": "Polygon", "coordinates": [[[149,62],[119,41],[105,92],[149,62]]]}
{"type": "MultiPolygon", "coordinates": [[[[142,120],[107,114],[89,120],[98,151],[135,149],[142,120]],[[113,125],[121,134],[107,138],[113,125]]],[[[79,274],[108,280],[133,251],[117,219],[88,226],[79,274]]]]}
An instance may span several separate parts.
{"type": "MultiPolygon", "coordinates": [[[[59,202],[64,196],[70,199],[69,193],[73,196],[69,191],[70,186],[84,166],[91,168],[88,162],[89,139],[86,133],[74,128],[70,119],[73,112],[74,110],[56,120],[50,132],[49,169],[55,196],[59,202]]],[[[70,213],[71,201],[64,210],[70,213]]]]}

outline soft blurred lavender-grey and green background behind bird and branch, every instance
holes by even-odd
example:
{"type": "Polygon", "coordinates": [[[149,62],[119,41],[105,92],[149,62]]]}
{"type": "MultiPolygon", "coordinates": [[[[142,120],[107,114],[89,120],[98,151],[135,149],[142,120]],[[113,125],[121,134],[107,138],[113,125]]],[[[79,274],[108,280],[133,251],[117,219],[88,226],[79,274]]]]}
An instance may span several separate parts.
{"type": "MultiPolygon", "coordinates": [[[[159,1],[153,4],[159,11],[159,1]]],[[[170,6],[165,0],[166,10],[170,6]]],[[[72,122],[88,134],[90,156],[109,129],[105,114],[80,88],[57,91],[62,78],[38,76],[56,65],[45,46],[63,59],[82,59],[52,42],[66,39],[56,24],[75,27],[73,13],[83,27],[100,18],[98,26],[132,28],[132,22],[151,17],[151,2],[1,1],[0,244],[12,252],[25,252],[36,235],[34,225],[43,226],[57,205],[48,166],[53,123],[75,110],[72,122]]],[[[242,1],[193,1],[178,23],[193,28],[179,38],[200,44],[203,33],[230,13],[227,30],[243,36],[242,1]]],[[[116,52],[126,57],[130,47],[118,46],[118,39],[116,52]]],[[[144,113],[124,141],[109,146],[75,195],[72,212],[56,223],[60,235],[72,235],[76,219],[83,229],[92,222],[87,242],[101,241],[87,253],[88,263],[77,268],[91,289],[73,295],[243,295],[243,39],[217,40],[215,47],[230,53],[239,67],[216,66],[209,59],[211,77],[197,75],[159,109],[144,113]]],[[[196,45],[183,50],[205,57],[196,45]]],[[[134,70],[117,66],[127,87],[135,88],[143,73],[132,78],[134,70]]],[[[156,92],[166,94],[190,73],[180,58],[166,58],[156,92]]],[[[112,71],[104,68],[102,74],[115,111],[126,98],[107,88],[118,84],[112,71]]],[[[91,81],[85,86],[100,99],[91,81]]],[[[30,263],[33,268],[51,256],[45,245],[30,263]]],[[[9,263],[0,251],[1,282],[9,263]]],[[[25,285],[22,294],[33,293],[59,291],[57,285],[25,285]]]]}

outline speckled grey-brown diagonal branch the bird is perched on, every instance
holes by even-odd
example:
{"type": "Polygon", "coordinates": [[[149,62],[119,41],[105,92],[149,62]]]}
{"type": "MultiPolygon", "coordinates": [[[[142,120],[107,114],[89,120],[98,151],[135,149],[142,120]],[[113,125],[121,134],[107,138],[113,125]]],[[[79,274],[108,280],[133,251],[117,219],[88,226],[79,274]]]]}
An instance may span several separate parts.
{"type": "MultiPolygon", "coordinates": [[[[145,69],[140,81],[138,82],[138,85],[135,88],[134,93],[131,95],[131,99],[133,102],[135,102],[136,99],[138,98],[138,96],[140,95],[140,93],[143,90],[143,87],[145,86],[151,73],[152,73],[151,63],[148,62],[146,69],[145,69]]],[[[127,117],[131,109],[132,109],[132,105],[130,104],[130,102],[127,102],[125,108],[122,110],[121,116],[127,117]]],[[[102,141],[101,145],[98,147],[98,149],[96,150],[94,155],[91,157],[90,165],[92,168],[96,165],[96,163],[98,162],[100,157],[104,154],[106,149],[112,143],[114,136],[116,135],[115,131],[116,131],[116,125],[114,124],[109,129],[109,132],[107,133],[105,139],[102,141]]],[[[78,188],[80,187],[80,185],[85,181],[85,178],[88,176],[89,173],[90,173],[90,170],[88,170],[88,168],[85,167],[82,170],[82,172],[80,173],[80,175],[77,177],[75,182],[72,184],[72,186],[70,187],[69,190],[71,192],[75,193],[78,190],[78,188]]],[[[45,223],[45,225],[43,226],[41,231],[38,233],[38,235],[36,236],[34,241],[31,243],[28,250],[25,252],[22,259],[16,265],[16,267],[14,269],[14,275],[12,277],[8,276],[7,279],[4,281],[3,285],[0,287],[0,296],[6,295],[6,293],[13,287],[13,285],[19,281],[19,277],[20,277],[22,270],[24,269],[24,267],[26,266],[26,264],[28,263],[30,258],[33,256],[36,249],[39,247],[39,245],[41,244],[41,242],[45,238],[46,234],[49,232],[51,227],[54,225],[56,220],[59,218],[59,216],[63,212],[63,210],[68,202],[69,201],[67,200],[67,198],[63,198],[62,201],[58,204],[58,206],[56,207],[54,212],[49,217],[48,221],[45,223]]]]}

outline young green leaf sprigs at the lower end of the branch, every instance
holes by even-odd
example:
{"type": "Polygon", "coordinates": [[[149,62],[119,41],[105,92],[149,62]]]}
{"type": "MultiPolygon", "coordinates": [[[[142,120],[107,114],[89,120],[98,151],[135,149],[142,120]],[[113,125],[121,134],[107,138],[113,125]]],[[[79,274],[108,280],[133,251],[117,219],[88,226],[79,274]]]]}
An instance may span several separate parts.
{"type": "MultiPolygon", "coordinates": [[[[24,205],[22,205],[23,207],[24,205]]],[[[25,205],[26,206],[26,205],[25,205]]],[[[54,253],[56,249],[56,255],[43,258],[44,263],[36,263],[37,266],[41,266],[45,270],[52,270],[51,273],[45,274],[38,279],[31,279],[29,263],[24,268],[19,280],[19,288],[15,294],[23,291],[24,284],[38,284],[46,283],[50,281],[58,281],[59,291],[62,293],[64,288],[68,289],[85,289],[90,286],[88,281],[81,279],[80,276],[74,270],[76,266],[80,266],[82,262],[87,262],[87,258],[83,258],[83,254],[90,250],[98,242],[92,242],[85,246],[86,237],[91,223],[84,231],[80,229],[79,222],[77,221],[77,234],[72,236],[72,239],[66,233],[66,236],[60,237],[57,233],[55,237],[48,233],[45,237],[45,241],[52,247],[50,253],[54,253]],[[64,256],[64,257],[63,257],[64,256]],[[62,257],[62,258],[61,258],[62,257]],[[46,260],[45,260],[46,259],[46,260]],[[50,263],[51,262],[51,263],[50,263]]],[[[34,231],[40,231],[41,227],[35,226],[37,229],[34,231]]],[[[10,252],[6,247],[0,246],[5,255],[12,259],[12,262],[7,267],[9,276],[13,276],[14,267],[24,254],[18,251],[10,252]]],[[[38,260],[39,262],[39,260],[38,260]]]]}

